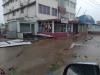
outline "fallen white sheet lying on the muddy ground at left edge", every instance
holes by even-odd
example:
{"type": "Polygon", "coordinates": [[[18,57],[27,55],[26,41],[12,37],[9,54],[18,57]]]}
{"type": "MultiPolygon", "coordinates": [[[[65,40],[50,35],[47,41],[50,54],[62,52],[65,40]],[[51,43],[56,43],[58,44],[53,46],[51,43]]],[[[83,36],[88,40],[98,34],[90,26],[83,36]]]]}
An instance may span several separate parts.
{"type": "Polygon", "coordinates": [[[30,44],[31,44],[31,42],[25,42],[25,41],[19,40],[19,39],[8,40],[8,41],[0,42],[0,48],[12,47],[12,46],[21,46],[21,45],[30,45],[30,44]]]}

